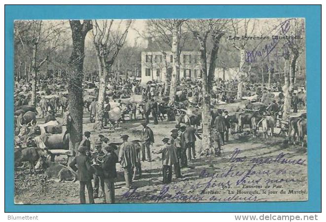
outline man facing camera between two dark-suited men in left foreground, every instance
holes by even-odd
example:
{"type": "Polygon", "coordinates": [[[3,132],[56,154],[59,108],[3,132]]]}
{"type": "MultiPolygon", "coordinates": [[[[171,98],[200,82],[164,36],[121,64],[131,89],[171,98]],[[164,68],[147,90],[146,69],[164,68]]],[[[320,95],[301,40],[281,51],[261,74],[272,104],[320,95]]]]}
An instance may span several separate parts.
{"type": "Polygon", "coordinates": [[[104,161],[106,154],[102,150],[101,141],[95,142],[95,150],[92,153],[93,165],[95,166],[95,174],[93,175],[94,179],[94,188],[93,194],[94,199],[99,197],[99,185],[101,183],[101,190],[104,193],[104,179],[103,179],[103,170],[101,168],[101,163],[104,161]]]}

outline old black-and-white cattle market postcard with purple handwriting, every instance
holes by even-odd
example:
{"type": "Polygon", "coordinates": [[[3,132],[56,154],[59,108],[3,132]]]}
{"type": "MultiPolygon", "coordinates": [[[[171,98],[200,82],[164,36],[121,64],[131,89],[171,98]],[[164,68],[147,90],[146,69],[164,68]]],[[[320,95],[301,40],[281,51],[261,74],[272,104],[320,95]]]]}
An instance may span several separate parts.
{"type": "Polygon", "coordinates": [[[304,18],[13,33],[15,204],[308,200],[304,18]]]}

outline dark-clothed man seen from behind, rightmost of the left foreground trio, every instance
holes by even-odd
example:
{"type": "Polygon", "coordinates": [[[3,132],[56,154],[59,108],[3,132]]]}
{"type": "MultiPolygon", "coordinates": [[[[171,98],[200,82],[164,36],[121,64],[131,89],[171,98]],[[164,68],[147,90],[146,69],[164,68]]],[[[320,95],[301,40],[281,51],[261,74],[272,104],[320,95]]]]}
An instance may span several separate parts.
{"type": "Polygon", "coordinates": [[[118,163],[119,160],[114,149],[115,148],[111,145],[106,145],[104,147],[106,158],[102,163],[102,169],[106,203],[115,203],[114,180],[117,177],[115,164],[118,163]]]}

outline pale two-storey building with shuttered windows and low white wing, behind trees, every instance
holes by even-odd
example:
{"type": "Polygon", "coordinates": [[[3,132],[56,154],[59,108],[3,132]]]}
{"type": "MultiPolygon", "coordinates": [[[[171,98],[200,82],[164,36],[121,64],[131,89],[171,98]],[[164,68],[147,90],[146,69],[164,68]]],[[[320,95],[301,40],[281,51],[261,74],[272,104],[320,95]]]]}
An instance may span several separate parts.
{"type": "MultiPolygon", "coordinates": [[[[180,79],[184,78],[201,78],[201,63],[199,45],[196,39],[189,37],[185,42],[181,42],[180,55],[180,79]]],[[[151,38],[146,39],[145,50],[142,51],[142,82],[150,80],[165,81],[166,72],[172,73],[172,53],[171,46],[159,45],[151,38]],[[161,46],[161,48],[159,47],[161,46]],[[162,51],[166,53],[166,64],[162,51]],[[167,67],[167,68],[166,68],[167,67]]],[[[218,63],[217,63],[218,65],[218,63]]],[[[209,64],[208,64],[209,67],[209,64]]],[[[238,67],[227,67],[215,69],[215,77],[231,79],[239,72],[238,67]]]]}

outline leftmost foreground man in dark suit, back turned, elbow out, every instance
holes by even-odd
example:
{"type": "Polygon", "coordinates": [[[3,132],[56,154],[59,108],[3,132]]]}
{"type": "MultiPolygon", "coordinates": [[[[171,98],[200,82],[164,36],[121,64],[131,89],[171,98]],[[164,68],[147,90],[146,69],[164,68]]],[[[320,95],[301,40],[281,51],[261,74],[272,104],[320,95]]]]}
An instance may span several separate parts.
{"type": "Polygon", "coordinates": [[[87,148],[84,146],[80,146],[78,148],[79,155],[76,156],[72,162],[69,164],[69,166],[72,168],[73,171],[77,171],[77,177],[80,183],[80,190],[79,190],[79,196],[80,196],[80,203],[85,204],[86,198],[85,198],[85,185],[87,187],[88,191],[88,198],[89,203],[94,203],[93,198],[93,186],[92,186],[92,178],[94,169],[91,166],[91,160],[88,156],[86,156],[87,148]],[[76,167],[77,165],[77,167],[76,167]]]}

